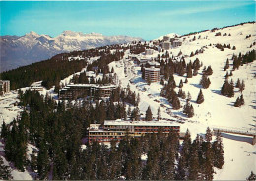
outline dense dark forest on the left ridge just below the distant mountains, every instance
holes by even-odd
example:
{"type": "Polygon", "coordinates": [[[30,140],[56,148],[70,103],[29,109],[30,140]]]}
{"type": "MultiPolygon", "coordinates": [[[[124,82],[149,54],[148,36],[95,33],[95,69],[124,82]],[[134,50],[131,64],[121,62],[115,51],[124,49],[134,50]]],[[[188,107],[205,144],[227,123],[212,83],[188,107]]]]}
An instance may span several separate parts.
{"type": "Polygon", "coordinates": [[[11,89],[28,87],[36,81],[42,81],[42,86],[49,89],[53,85],[59,86],[60,80],[81,71],[88,65],[87,60],[92,57],[100,56],[97,61],[92,63],[92,66],[98,66],[103,73],[108,73],[108,64],[120,60],[123,56],[123,49],[125,49],[123,47],[122,51],[117,50],[112,53],[111,50],[114,48],[121,49],[121,46],[111,45],[84,51],[61,53],[48,60],[3,72],[0,77],[10,80],[11,89]],[[82,57],[82,60],[69,59],[76,56],[82,57]]]}

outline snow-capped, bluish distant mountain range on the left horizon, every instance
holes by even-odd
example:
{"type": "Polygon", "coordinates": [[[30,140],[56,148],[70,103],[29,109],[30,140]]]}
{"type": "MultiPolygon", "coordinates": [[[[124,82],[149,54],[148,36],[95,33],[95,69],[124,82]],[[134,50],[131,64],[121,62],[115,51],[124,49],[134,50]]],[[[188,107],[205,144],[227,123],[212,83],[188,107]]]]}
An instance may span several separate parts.
{"type": "Polygon", "coordinates": [[[111,44],[143,41],[139,37],[103,36],[98,33],[64,31],[57,37],[30,32],[24,36],[0,36],[0,72],[48,59],[62,52],[111,44]]]}

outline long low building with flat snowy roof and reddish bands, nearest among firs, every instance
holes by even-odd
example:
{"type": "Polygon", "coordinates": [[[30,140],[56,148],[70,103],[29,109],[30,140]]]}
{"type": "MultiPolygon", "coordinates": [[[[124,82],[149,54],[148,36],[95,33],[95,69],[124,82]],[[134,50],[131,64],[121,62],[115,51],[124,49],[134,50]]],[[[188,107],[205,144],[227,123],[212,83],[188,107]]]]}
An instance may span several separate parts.
{"type": "Polygon", "coordinates": [[[130,137],[141,137],[148,133],[158,133],[159,129],[168,134],[170,131],[179,133],[180,126],[171,121],[124,121],[105,120],[101,124],[90,124],[88,128],[88,142],[120,141],[127,134],[130,137]]]}

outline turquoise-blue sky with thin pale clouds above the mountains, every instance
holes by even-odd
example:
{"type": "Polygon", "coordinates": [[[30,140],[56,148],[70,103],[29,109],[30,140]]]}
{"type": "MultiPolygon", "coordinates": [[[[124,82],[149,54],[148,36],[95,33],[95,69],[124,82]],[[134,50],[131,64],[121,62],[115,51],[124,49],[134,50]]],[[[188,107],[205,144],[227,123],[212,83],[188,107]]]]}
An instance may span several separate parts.
{"type": "Polygon", "coordinates": [[[255,1],[1,1],[1,35],[64,30],[146,40],[255,21],[255,1]]]}

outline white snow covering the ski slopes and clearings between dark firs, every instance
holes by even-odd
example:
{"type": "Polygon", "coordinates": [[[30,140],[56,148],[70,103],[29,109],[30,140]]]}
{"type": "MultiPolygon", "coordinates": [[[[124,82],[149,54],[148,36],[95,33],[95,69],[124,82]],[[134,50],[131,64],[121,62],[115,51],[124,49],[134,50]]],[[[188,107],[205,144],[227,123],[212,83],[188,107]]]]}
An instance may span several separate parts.
{"type": "MultiPolygon", "coordinates": [[[[173,34],[171,34],[173,35],[173,34]]],[[[162,37],[160,37],[162,38],[162,37]]],[[[243,97],[245,105],[242,107],[234,107],[233,104],[241,93],[235,89],[234,97],[228,98],[221,95],[221,88],[224,83],[224,71],[225,61],[228,58],[230,67],[228,72],[232,70],[233,54],[238,55],[240,52],[245,54],[248,51],[255,49],[255,45],[250,47],[253,42],[256,42],[256,24],[244,24],[235,27],[228,27],[217,30],[215,32],[206,31],[195,35],[184,36],[182,39],[182,46],[170,49],[170,55],[177,56],[181,51],[185,57],[186,63],[190,60],[193,62],[196,58],[199,58],[203,66],[211,65],[213,74],[209,76],[211,85],[208,89],[202,89],[205,101],[198,105],[196,99],[200,91],[201,86],[199,81],[202,77],[202,67],[199,70],[197,76],[188,78],[188,83],[183,84],[182,90],[189,91],[191,94],[191,104],[194,107],[195,115],[192,118],[187,118],[182,113],[182,108],[179,110],[173,110],[171,104],[160,96],[162,85],[160,83],[152,83],[148,85],[145,80],[141,78],[140,67],[128,62],[129,51],[125,52],[123,60],[118,62],[112,62],[109,67],[114,68],[115,73],[118,76],[120,85],[127,87],[130,85],[131,91],[135,91],[140,94],[139,108],[141,113],[145,114],[148,106],[151,106],[153,116],[157,117],[157,110],[160,107],[162,119],[173,120],[173,124],[180,125],[181,132],[185,132],[189,129],[192,139],[197,134],[203,135],[207,127],[228,127],[234,129],[245,129],[250,132],[256,132],[256,61],[239,67],[239,70],[233,71],[233,76],[229,77],[236,83],[237,79],[244,80],[245,90],[243,91],[243,97]],[[221,32],[221,36],[215,36],[216,33],[221,32]],[[223,36],[226,33],[227,36],[223,36]],[[231,36],[228,36],[230,33],[231,36]],[[250,38],[245,38],[250,35],[250,38]],[[192,39],[196,37],[195,41],[192,39]],[[200,38],[199,38],[200,36],[200,38]],[[230,44],[231,47],[235,46],[236,50],[224,48],[224,51],[220,51],[214,44],[224,43],[230,44]],[[211,44],[211,46],[210,46],[211,44]],[[203,48],[204,52],[193,57],[190,57],[190,53],[203,48]],[[128,68],[127,73],[124,73],[124,68],[128,68]]],[[[165,52],[164,52],[165,53],[165,52]]],[[[159,52],[155,51],[150,57],[157,57],[159,52]]],[[[160,53],[160,55],[162,52],[160,53]]],[[[145,55],[141,55],[145,56],[145,55]]],[[[180,57],[176,57],[180,58],[180,57]]],[[[94,61],[94,60],[93,60],[94,61]]],[[[82,71],[84,71],[83,69],[82,71]]],[[[81,71],[81,72],[82,72],[81,71]]],[[[79,73],[75,73],[79,74],[79,73]]],[[[61,81],[63,84],[67,84],[72,76],[61,81]]],[[[186,78],[184,76],[174,75],[176,85],[179,84],[180,79],[183,81],[186,78]]],[[[26,89],[26,88],[24,88],[26,89]]],[[[28,88],[27,88],[28,89],[28,88]]],[[[57,98],[57,94],[53,93],[53,89],[40,91],[41,94],[50,94],[54,99],[57,98]]],[[[177,92],[179,88],[176,88],[177,92]]],[[[17,91],[12,91],[3,97],[0,97],[0,125],[3,121],[10,123],[17,117],[21,110],[15,103],[19,102],[17,98],[17,91]]],[[[181,105],[185,104],[185,100],[180,99],[181,105]]],[[[221,170],[215,170],[216,174],[214,179],[216,180],[244,180],[250,172],[256,173],[256,145],[251,145],[251,137],[222,134],[224,144],[224,167],[221,170]]],[[[32,151],[32,145],[28,147],[28,156],[32,151]]],[[[3,156],[3,144],[0,142],[0,156],[3,156]]],[[[10,164],[4,159],[5,164],[10,164]]],[[[27,180],[32,179],[29,172],[19,172],[17,170],[12,171],[14,179],[27,180]]]]}

